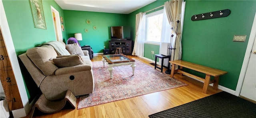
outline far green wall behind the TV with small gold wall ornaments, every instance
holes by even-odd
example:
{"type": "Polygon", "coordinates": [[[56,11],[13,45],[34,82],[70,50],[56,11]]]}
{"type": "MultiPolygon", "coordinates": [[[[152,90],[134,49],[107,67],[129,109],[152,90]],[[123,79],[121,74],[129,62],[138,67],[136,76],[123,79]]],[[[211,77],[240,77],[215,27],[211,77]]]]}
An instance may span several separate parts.
{"type": "Polygon", "coordinates": [[[94,53],[103,52],[104,46],[109,48],[110,26],[129,26],[127,14],[102,12],[85,12],[63,10],[66,24],[66,36],[74,37],[74,33],[82,33],[81,46],[90,45],[94,53]],[[86,24],[90,20],[90,24],[86,24]],[[96,30],[93,29],[96,26],[96,30]],[[88,32],[84,32],[88,29],[88,32]]]}

